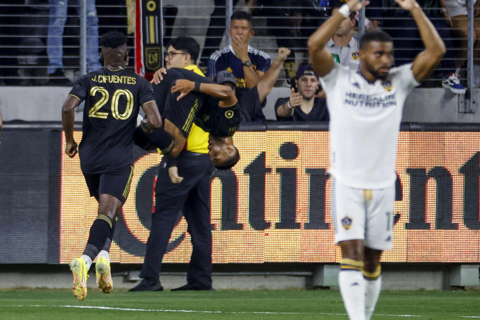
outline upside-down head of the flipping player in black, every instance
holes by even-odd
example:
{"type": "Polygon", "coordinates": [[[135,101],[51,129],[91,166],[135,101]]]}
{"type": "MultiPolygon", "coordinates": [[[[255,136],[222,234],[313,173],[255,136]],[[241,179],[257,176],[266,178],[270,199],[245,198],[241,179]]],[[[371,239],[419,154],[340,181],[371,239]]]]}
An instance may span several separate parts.
{"type": "Polygon", "coordinates": [[[231,168],[240,158],[231,136],[219,137],[211,134],[208,137],[208,155],[218,170],[231,168]]]}

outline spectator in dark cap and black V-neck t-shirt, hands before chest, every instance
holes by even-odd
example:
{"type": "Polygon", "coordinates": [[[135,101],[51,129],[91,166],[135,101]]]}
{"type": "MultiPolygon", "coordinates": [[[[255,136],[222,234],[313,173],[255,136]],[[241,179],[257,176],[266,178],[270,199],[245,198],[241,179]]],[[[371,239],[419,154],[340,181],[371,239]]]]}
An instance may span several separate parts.
{"type": "Polygon", "coordinates": [[[316,97],[320,92],[318,75],[310,64],[303,64],[292,79],[290,96],[275,103],[278,121],[328,121],[325,98],[316,97]]]}

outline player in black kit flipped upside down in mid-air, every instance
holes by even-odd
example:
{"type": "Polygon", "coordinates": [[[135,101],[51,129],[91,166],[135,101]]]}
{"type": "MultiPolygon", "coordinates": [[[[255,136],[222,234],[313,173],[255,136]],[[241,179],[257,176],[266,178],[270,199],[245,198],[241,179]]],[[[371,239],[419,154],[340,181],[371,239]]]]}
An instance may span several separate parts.
{"type": "Polygon", "coordinates": [[[234,90],[192,71],[170,68],[153,91],[164,130],[150,134],[137,130],[136,144],[145,149],[158,147],[163,154],[175,157],[195,122],[210,133],[208,154],[217,169],[230,168],[238,161],[232,135],[240,123],[241,111],[234,90]]]}

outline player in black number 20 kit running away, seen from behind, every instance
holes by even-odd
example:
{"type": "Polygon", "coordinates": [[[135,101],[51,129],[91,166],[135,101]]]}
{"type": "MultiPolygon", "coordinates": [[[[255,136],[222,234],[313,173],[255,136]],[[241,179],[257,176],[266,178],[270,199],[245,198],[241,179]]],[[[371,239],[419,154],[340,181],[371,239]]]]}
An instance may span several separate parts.
{"type": "Polygon", "coordinates": [[[100,38],[103,68],[79,77],[62,106],[65,153],[75,156],[73,109],[85,101],[83,136],[78,148],[80,166],[90,195],[98,201],[98,215],[90,228],[83,254],[70,262],[73,294],[86,297],[86,277],[95,256],[96,281],[102,292],[112,290],[108,250],[113,227],[128,196],[133,174],[133,132],[139,107],[145,111],[145,131],[161,126],[150,83],[125,70],[127,38],[110,31],[100,38]]]}

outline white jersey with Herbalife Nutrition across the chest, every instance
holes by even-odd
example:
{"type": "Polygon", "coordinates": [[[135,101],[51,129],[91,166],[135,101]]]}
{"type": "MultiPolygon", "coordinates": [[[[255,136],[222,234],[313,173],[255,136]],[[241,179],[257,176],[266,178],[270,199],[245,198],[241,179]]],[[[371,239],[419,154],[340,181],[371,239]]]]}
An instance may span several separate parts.
{"type": "Polygon", "coordinates": [[[369,83],[338,63],[320,78],[330,114],[329,172],[348,186],[377,189],[396,179],[396,141],[403,103],[419,83],[411,63],[369,83]]]}

